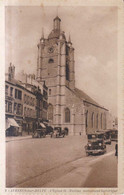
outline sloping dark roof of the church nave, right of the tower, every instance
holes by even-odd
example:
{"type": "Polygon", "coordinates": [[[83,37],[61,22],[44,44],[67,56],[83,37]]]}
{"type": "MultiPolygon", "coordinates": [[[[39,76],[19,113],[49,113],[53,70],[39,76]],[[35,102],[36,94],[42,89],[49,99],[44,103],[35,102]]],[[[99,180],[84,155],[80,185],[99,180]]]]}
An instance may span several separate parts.
{"type": "Polygon", "coordinates": [[[100,106],[96,101],[94,101],[90,96],[88,96],[86,93],[84,93],[82,90],[75,88],[74,89],[74,93],[76,94],[76,96],[78,96],[81,100],[86,101],[88,103],[91,103],[93,105],[96,105],[98,107],[101,107],[105,110],[107,110],[106,108],[100,106]]]}

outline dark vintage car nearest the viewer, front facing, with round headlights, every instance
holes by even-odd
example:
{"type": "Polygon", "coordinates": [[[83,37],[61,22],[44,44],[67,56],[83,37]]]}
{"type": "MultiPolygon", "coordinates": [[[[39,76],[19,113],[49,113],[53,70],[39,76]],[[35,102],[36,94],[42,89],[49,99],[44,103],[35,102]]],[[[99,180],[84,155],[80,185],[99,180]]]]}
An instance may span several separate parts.
{"type": "Polygon", "coordinates": [[[104,142],[104,133],[96,132],[88,134],[88,143],[85,146],[86,155],[104,154],[106,152],[106,144],[104,142]]]}

